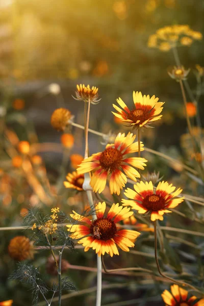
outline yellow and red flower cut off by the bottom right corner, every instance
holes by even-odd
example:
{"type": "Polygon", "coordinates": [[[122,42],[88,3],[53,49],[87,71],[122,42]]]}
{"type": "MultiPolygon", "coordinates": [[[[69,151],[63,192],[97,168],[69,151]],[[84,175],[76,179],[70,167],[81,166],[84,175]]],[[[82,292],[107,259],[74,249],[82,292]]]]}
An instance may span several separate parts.
{"type": "Polygon", "coordinates": [[[188,297],[188,291],[179,287],[178,285],[171,286],[171,293],[164,290],[162,298],[166,306],[203,306],[204,298],[195,303],[196,296],[188,297]]]}

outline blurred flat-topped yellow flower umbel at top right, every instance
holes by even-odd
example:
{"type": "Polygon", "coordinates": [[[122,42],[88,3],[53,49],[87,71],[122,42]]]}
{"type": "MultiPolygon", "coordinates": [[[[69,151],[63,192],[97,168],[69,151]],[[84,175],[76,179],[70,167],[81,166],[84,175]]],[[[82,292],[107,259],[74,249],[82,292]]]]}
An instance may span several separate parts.
{"type": "Polygon", "coordinates": [[[148,47],[166,52],[175,46],[190,46],[194,40],[201,40],[202,34],[190,29],[189,25],[174,24],[160,28],[149,36],[148,47]]]}

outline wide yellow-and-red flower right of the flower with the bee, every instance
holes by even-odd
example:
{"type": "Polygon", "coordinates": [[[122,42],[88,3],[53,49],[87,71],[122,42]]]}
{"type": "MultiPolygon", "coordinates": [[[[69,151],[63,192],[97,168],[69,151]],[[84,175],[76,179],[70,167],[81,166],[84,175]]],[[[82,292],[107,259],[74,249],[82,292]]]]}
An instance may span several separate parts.
{"type": "Polygon", "coordinates": [[[154,191],[152,182],[137,183],[134,189],[125,190],[124,195],[130,200],[122,199],[123,206],[131,206],[139,214],[150,212],[151,221],[163,220],[164,213],[171,213],[169,208],[175,208],[184,200],[184,197],[174,198],[182,192],[182,189],[174,191],[175,187],[164,181],[159,182],[156,191],[154,191]]]}

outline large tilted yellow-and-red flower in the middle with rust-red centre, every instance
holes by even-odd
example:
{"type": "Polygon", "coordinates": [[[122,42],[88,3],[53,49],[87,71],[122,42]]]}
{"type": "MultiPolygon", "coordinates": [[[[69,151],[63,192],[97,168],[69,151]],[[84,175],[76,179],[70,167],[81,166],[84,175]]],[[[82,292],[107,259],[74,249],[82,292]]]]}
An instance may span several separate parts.
{"type": "MultiPolygon", "coordinates": [[[[127,182],[125,174],[133,181],[137,181],[136,177],[140,177],[135,168],[143,170],[147,160],[140,157],[126,157],[127,154],[138,152],[138,142],[133,143],[135,137],[136,135],[131,133],[128,133],[126,137],[124,133],[119,133],[114,144],[107,144],[103,152],[93,154],[80,164],[77,169],[78,173],[95,170],[90,181],[94,192],[102,192],[105,189],[107,178],[110,177],[110,192],[119,195],[120,189],[127,182]]],[[[143,143],[140,143],[141,150],[143,150],[143,143]]]]}

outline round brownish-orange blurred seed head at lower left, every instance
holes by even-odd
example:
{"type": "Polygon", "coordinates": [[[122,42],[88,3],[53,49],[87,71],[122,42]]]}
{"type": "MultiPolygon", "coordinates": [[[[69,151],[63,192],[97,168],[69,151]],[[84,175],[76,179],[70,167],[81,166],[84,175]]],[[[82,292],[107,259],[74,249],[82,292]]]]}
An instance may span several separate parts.
{"type": "Polygon", "coordinates": [[[8,250],[10,257],[17,261],[32,259],[34,254],[33,244],[25,236],[16,236],[11,239],[8,250]]]}

